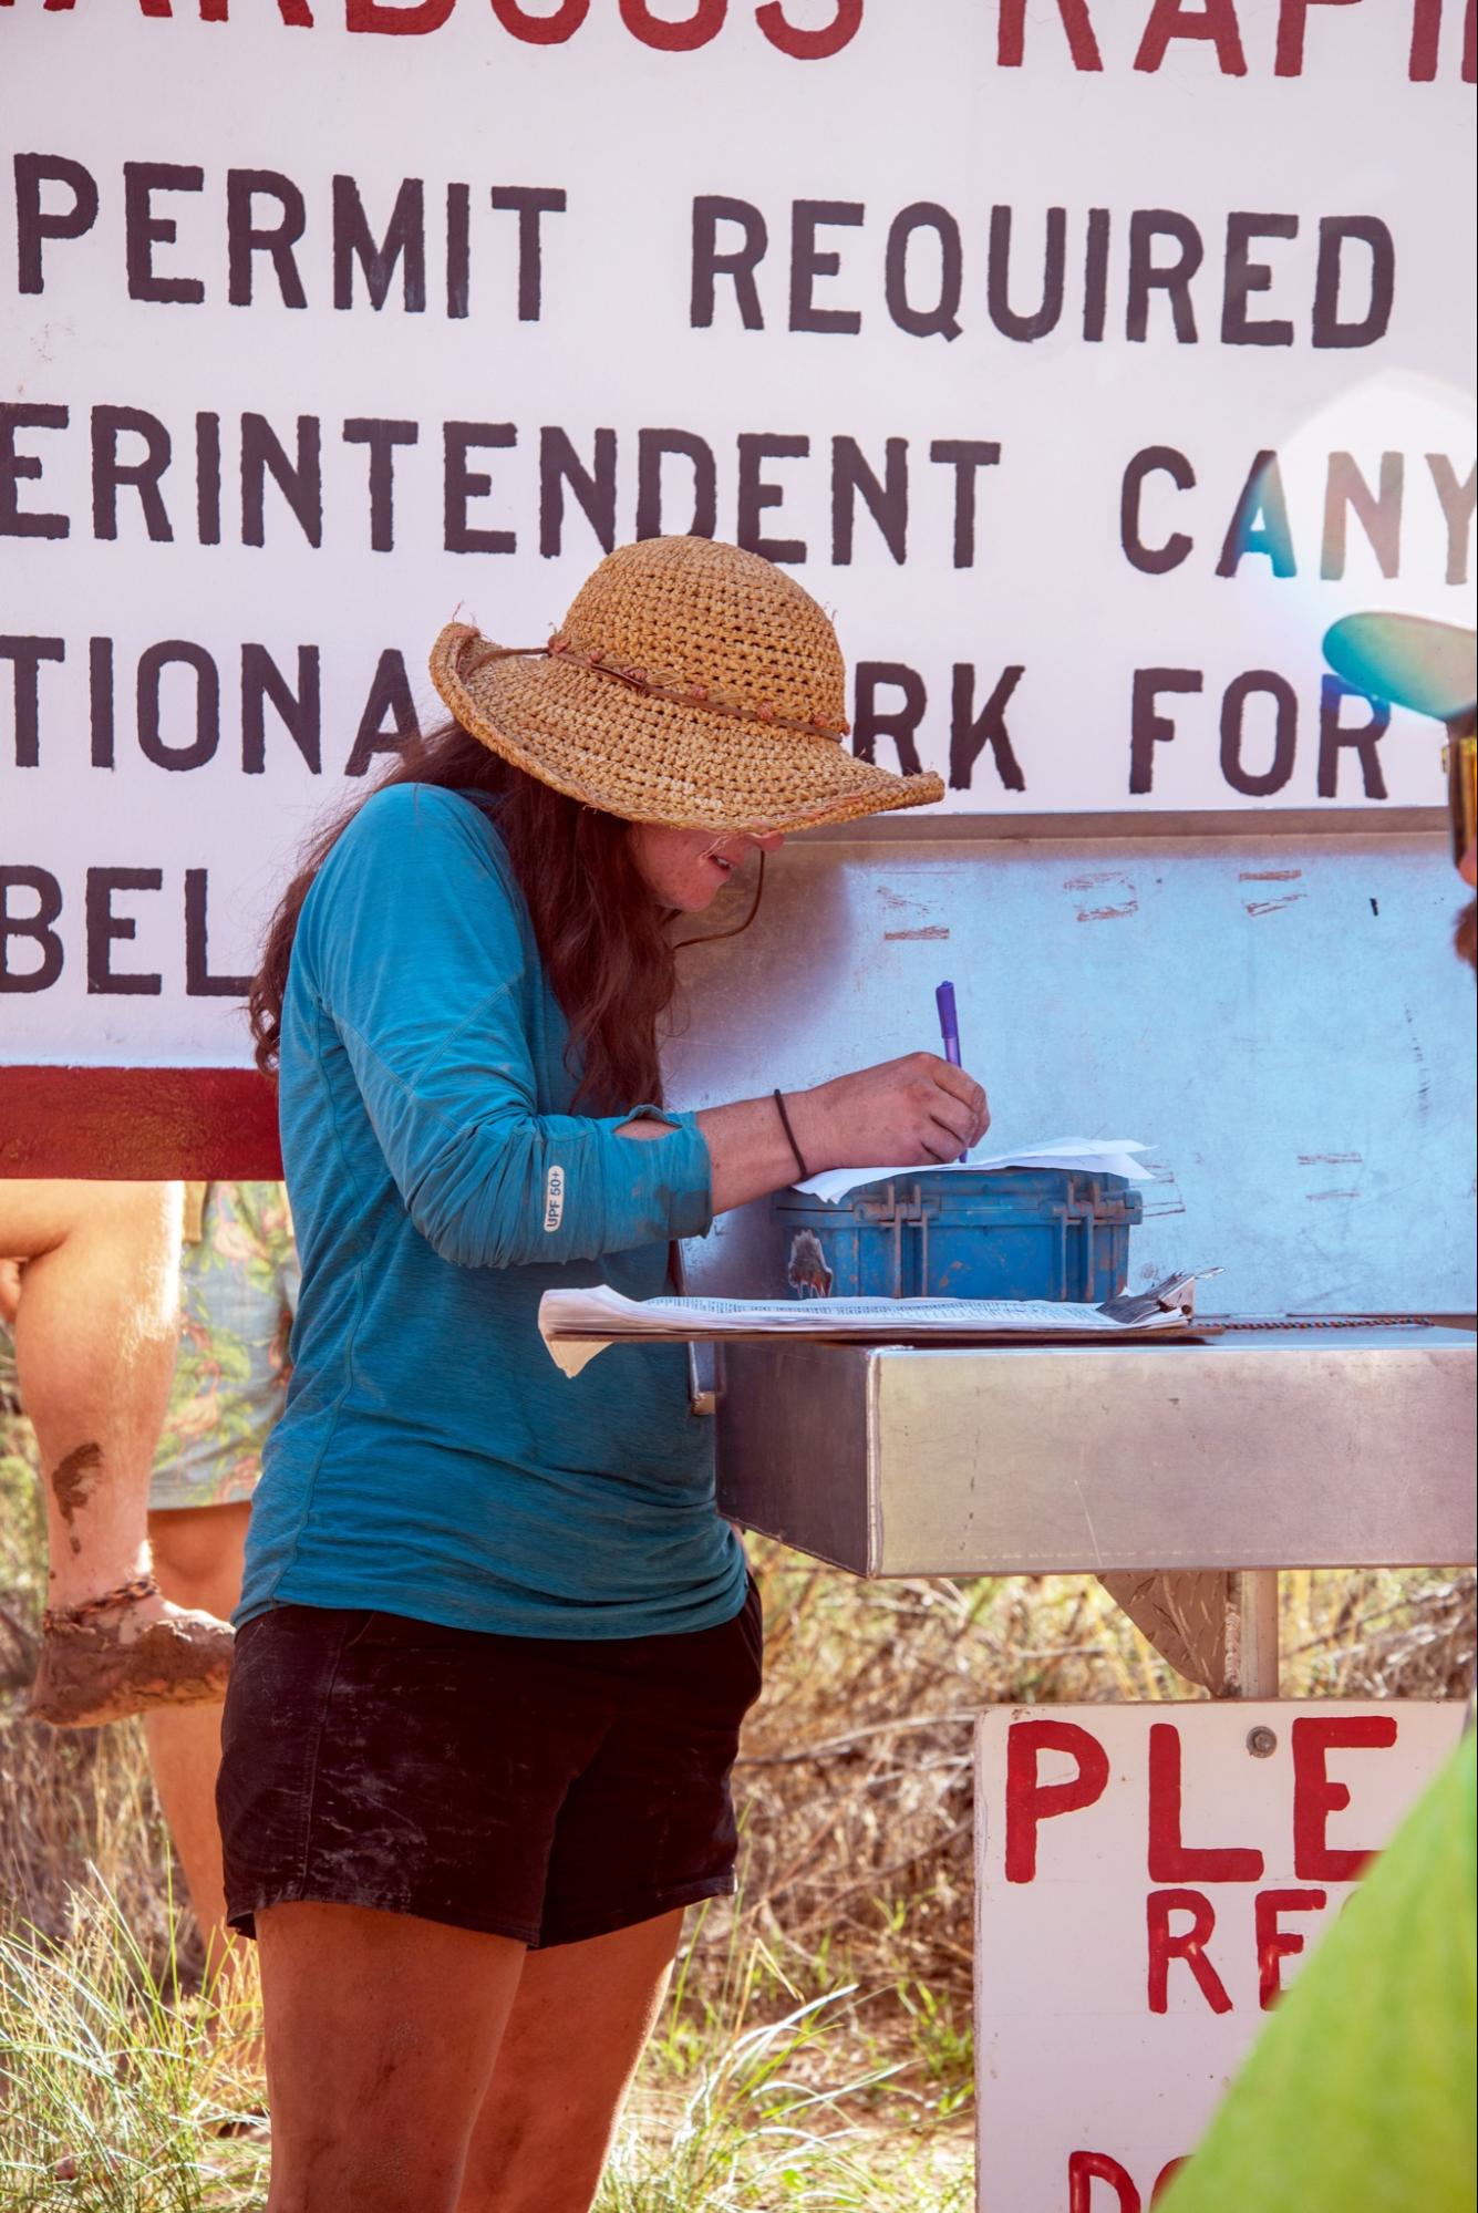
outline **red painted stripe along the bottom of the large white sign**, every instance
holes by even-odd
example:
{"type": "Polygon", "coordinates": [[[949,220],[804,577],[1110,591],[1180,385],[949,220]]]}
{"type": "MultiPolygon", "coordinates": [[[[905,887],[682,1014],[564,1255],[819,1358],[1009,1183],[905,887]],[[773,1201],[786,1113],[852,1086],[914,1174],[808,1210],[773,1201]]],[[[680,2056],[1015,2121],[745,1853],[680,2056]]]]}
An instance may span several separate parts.
{"type": "Polygon", "coordinates": [[[0,1069],[0,1175],[281,1173],[277,1091],[254,1069],[0,1069]]]}

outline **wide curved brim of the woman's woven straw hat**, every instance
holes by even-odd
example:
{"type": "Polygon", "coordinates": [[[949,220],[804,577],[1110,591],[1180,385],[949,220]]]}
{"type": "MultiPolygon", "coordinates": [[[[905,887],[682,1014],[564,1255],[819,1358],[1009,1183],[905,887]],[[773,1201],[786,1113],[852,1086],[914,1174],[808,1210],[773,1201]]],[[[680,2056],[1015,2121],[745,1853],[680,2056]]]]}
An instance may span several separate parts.
{"type": "Polygon", "coordinates": [[[558,657],[476,666],[469,640],[465,624],[447,624],[431,648],[431,682],[462,728],[513,768],[624,821],[821,830],[945,797],[940,777],[898,777],[836,739],[650,697],[558,657]]]}

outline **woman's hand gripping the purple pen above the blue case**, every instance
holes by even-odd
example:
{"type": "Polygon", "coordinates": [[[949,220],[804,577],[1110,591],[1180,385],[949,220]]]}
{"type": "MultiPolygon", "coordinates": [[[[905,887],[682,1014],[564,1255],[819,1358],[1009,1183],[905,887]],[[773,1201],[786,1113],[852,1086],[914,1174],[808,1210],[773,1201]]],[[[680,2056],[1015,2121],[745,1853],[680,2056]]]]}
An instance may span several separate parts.
{"type": "Polygon", "coordinates": [[[938,1053],[905,1053],[814,1091],[790,1091],[785,1111],[814,1175],[956,1160],[991,1126],[982,1087],[938,1053]]]}

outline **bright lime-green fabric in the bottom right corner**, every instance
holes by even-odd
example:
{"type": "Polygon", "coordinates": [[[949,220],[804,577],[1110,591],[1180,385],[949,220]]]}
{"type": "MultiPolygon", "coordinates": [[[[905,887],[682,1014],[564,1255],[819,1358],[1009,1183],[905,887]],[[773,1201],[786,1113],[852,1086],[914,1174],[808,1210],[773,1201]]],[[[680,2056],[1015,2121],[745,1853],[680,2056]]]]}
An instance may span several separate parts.
{"type": "Polygon", "coordinates": [[[1476,2155],[1469,1731],[1155,2213],[1460,2213],[1476,2155]]]}

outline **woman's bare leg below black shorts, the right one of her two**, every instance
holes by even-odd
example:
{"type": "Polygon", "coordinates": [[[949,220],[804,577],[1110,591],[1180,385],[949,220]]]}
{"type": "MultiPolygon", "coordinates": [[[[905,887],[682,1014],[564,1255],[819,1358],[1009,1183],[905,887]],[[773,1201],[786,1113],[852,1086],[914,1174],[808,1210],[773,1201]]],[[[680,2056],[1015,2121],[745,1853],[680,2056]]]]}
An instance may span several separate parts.
{"type": "Polygon", "coordinates": [[[529,1952],[456,2213],[589,2213],[679,1932],[681,1910],[529,1952]]]}

